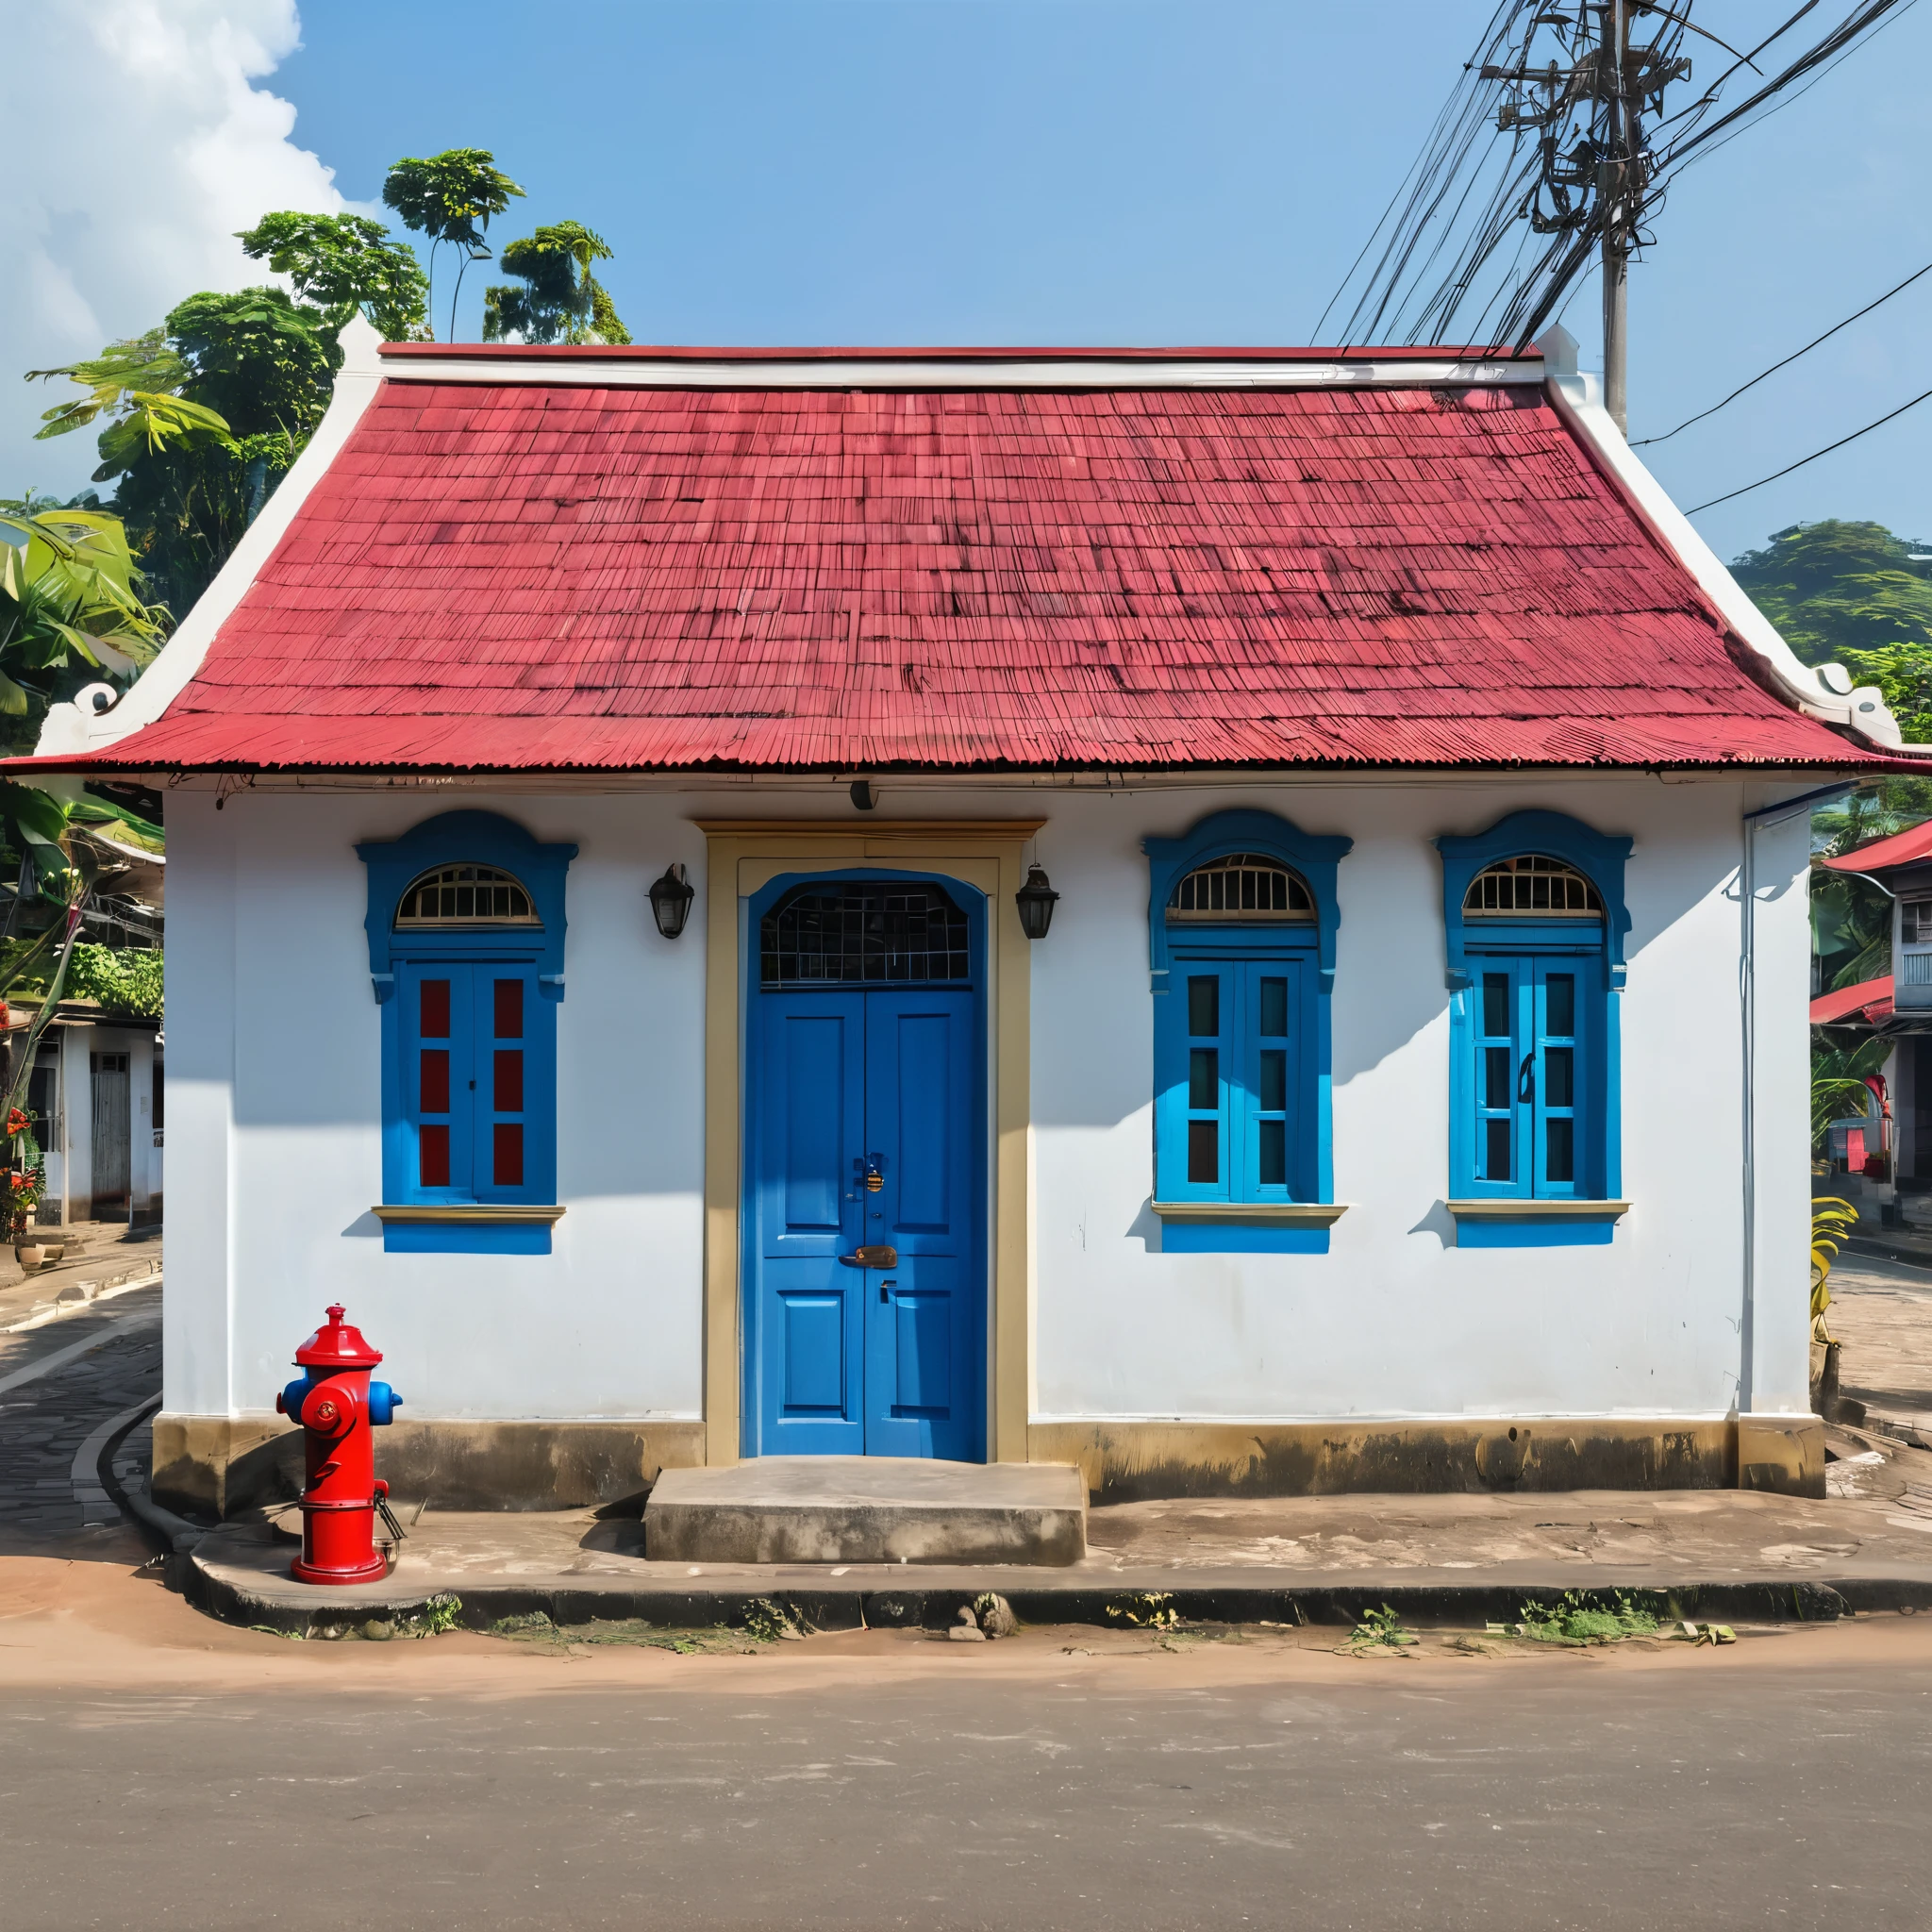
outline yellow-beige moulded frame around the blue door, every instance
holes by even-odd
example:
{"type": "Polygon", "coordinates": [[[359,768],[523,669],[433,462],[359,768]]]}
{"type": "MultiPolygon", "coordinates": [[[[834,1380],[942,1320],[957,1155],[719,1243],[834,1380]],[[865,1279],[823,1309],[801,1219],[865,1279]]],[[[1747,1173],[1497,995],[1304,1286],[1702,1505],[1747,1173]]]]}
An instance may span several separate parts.
{"type": "Polygon", "coordinates": [[[697,819],[705,835],[705,1463],[740,1443],[744,1200],[744,900],[779,873],[904,866],[987,898],[987,1095],[993,1119],[987,1461],[1026,1461],[1034,1395],[1034,1161],[1028,939],[1012,895],[1020,852],[1045,819],[697,819]]]}

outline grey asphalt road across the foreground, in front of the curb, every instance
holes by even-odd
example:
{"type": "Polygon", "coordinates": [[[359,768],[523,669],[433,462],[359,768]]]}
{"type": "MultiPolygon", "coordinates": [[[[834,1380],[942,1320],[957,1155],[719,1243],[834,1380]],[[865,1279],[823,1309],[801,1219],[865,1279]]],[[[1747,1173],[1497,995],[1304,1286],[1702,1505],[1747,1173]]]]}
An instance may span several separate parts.
{"type": "Polygon", "coordinates": [[[214,1696],[10,1696],[6,1924],[1932,1918],[1932,1662],[1163,1685],[1151,1662],[908,1683],[848,1660],[804,1689],[738,1665],[777,1671],[767,1694],[682,1662],[670,1690],[265,1692],[238,1671],[214,1696]]]}

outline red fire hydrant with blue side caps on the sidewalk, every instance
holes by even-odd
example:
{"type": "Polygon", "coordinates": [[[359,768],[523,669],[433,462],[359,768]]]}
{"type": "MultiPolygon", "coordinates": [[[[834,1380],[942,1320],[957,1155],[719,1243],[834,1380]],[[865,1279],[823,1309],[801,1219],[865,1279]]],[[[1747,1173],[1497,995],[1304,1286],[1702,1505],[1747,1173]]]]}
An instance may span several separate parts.
{"type": "Polygon", "coordinates": [[[394,1420],[402,1397],[369,1379],[381,1360],[336,1302],[296,1350],[303,1374],[274,1399],[276,1412],[307,1434],[301,1555],[292,1565],[303,1582],[373,1582],[388,1571],[375,1548],[377,1511],[388,1519],[388,1484],[377,1482],[369,1430],[394,1420]]]}

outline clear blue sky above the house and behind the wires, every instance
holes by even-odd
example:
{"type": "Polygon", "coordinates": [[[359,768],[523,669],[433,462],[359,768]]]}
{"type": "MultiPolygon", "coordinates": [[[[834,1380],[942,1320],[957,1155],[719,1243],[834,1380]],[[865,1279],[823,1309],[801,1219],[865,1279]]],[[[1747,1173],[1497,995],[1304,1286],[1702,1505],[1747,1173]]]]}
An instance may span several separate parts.
{"type": "MultiPolygon", "coordinates": [[[[495,149],[529,189],[500,240],[562,216],[603,232],[641,342],[1308,342],[1490,12],[311,0],[299,50],[253,85],[294,104],[292,147],[350,201],[373,203],[398,155],[495,149]]],[[[1768,8],[1696,17],[1737,41],[1768,8]]],[[[1633,274],[1633,437],[1932,261],[1928,71],[1917,8],[1681,178],[1633,274]]],[[[469,272],[458,334],[477,334],[487,280],[469,272]]],[[[1567,315],[1586,365],[1596,299],[1592,282],[1567,315]]],[[[147,321],[95,309],[114,332],[147,321]]],[[[1932,276],[1646,454],[1685,504],[1748,483],[1924,388],[1928,317],[1932,276]]],[[[1928,442],[1932,404],[1700,527],[1725,556],[1818,516],[1932,539],[1928,442]]],[[[48,477],[41,452],[23,456],[48,477]]]]}

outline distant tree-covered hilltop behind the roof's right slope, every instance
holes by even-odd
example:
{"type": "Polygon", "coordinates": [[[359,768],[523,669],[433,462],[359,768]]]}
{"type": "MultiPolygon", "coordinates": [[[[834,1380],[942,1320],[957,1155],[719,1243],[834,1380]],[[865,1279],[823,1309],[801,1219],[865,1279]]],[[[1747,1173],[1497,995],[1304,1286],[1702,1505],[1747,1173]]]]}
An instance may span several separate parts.
{"type": "MultiPolygon", "coordinates": [[[[1793,524],[1731,574],[1806,665],[1895,643],[1932,645],[1932,562],[1926,547],[1884,524],[1793,524]]],[[[1907,732],[1907,736],[1913,736],[1907,732]]]]}

